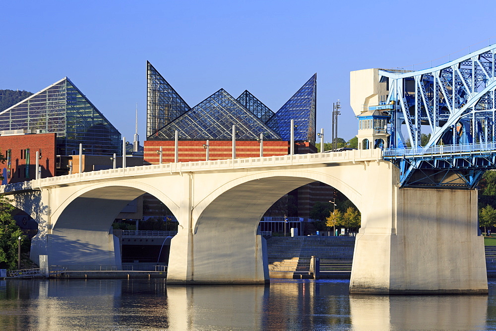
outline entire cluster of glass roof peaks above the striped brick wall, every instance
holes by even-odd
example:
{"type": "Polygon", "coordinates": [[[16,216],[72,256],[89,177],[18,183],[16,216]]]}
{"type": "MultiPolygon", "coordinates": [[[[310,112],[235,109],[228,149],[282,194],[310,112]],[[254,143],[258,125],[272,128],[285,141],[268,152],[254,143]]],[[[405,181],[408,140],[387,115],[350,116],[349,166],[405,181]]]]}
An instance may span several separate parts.
{"type": "Polygon", "coordinates": [[[147,139],[171,140],[177,130],[181,139],[230,140],[232,126],[236,125],[237,139],[253,140],[263,133],[265,139],[289,141],[290,123],[294,119],[297,125],[295,141],[310,141],[314,144],[316,75],[276,113],[246,90],[234,99],[221,89],[189,108],[147,62],[147,139]]]}

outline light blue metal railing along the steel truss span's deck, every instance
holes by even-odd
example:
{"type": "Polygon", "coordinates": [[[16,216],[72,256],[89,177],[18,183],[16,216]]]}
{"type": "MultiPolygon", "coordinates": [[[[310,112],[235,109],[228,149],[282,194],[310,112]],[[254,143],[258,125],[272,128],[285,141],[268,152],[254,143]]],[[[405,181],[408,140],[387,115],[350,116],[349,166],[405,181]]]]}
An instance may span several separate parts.
{"type": "Polygon", "coordinates": [[[384,149],[384,157],[402,157],[402,156],[421,156],[421,155],[439,155],[439,154],[456,154],[456,153],[474,153],[474,152],[495,152],[496,142],[463,144],[463,145],[441,145],[433,147],[418,148],[396,148],[384,149]]]}

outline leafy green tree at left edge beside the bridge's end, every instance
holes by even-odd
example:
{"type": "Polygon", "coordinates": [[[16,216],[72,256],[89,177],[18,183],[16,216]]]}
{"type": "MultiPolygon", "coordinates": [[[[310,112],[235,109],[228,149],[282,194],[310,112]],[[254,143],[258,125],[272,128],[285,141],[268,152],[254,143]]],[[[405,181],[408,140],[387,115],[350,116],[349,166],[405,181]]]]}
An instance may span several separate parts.
{"type": "Polygon", "coordinates": [[[17,269],[17,238],[21,237],[21,243],[25,239],[12,218],[13,210],[10,199],[0,196],[0,263],[4,263],[10,270],[17,269]]]}

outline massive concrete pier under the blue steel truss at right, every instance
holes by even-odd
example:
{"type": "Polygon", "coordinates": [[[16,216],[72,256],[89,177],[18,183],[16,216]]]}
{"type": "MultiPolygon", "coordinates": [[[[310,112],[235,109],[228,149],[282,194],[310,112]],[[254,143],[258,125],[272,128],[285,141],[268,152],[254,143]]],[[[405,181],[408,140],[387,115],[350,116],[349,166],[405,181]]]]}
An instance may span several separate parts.
{"type": "Polygon", "coordinates": [[[477,191],[393,186],[390,193],[382,204],[371,199],[362,216],[350,292],[488,293],[477,191]]]}

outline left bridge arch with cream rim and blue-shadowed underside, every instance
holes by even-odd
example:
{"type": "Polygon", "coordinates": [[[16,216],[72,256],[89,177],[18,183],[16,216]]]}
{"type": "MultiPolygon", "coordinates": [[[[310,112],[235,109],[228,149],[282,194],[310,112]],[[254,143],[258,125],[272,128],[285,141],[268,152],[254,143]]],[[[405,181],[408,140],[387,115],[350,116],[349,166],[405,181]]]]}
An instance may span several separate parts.
{"type": "Polygon", "coordinates": [[[177,217],[179,207],[162,191],[148,184],[97,183],[76,190],[51,213],[47,252],[51,265],[121,265],[120,242],[112,223],[133,199],[148,193],[177,217]]]}

